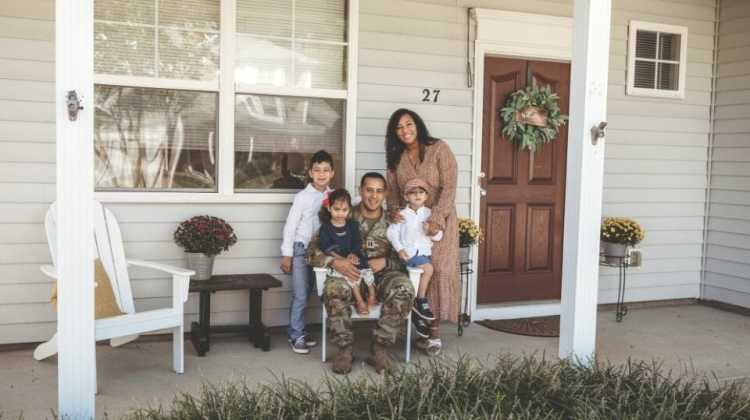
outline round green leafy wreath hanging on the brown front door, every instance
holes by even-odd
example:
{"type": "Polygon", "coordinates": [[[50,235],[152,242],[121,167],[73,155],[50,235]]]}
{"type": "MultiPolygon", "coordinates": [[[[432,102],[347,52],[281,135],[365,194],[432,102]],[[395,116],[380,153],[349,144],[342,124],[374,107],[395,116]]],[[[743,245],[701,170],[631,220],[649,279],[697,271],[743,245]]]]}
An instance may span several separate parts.
{"type": "Polygon", "coordinates": [[[536,151],[539,146],[554,140],[560,127],[568,120],[567,115],[560,113],[559,99],[549,85],[528,86],[508,95],[505,105],[498,110],[503,120],[503,137],[517,144],[521,150],[528,149],[532,152],[536,151]],[[546,111],[545,126],[540,127],[516,121],[516,114],[528,107],[537,107],[546,111]]]}

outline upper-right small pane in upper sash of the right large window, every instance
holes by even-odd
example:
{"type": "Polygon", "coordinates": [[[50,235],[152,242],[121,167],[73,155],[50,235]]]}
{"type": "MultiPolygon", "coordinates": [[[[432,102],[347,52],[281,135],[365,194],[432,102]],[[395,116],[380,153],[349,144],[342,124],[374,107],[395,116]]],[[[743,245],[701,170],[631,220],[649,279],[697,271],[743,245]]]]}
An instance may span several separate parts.
{"type": "Polygon", "coordinates": [[[346,0],[296,2],[295,38],[346,42],[346,0]]]}

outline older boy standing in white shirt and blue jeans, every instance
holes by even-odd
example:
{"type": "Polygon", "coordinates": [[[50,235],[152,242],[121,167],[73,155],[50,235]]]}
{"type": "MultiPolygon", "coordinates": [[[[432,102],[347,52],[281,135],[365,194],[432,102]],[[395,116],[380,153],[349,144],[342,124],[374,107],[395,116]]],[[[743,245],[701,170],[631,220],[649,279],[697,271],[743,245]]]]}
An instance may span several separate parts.
{"type": "Polygon", "coordinates": [[[305,310],[310,296],[310,267],[305,253],[313,235],[320,228],[318,212],[325,193],[331,191],[333,158],[319,150],[310,158],[310,183],[294,196],[294,203],[284,225],[281,243],[281,271],[292,273],[292,304],[289,308],[287,336],[292,351],[307,354],[317,343],[305,332],[305,310]]]}

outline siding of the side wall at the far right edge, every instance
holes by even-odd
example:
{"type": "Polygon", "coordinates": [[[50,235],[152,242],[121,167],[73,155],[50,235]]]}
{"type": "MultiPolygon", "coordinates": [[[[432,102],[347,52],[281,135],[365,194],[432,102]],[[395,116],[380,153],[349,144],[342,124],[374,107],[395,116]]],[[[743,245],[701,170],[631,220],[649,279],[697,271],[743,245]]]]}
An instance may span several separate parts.
{"type": "Polygon", "coordinates": [[[750,3],[722,0],[704,297],[750,307],[750,3]]]}

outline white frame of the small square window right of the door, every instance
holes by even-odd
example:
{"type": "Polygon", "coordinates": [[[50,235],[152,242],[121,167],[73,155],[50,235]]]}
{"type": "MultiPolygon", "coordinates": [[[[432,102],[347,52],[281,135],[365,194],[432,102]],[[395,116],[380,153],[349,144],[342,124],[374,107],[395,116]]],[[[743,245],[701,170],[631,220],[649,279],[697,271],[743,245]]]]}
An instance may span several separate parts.
{"type": "MultiPolygon", "coordinates": [[[[677,25],[666,25],[663,23],[643,22],[639,20],[631,20],[629,25],[628,33],[628,76],[627,76],[627,94],[631,96],[648,96],[652,98],[671,98],[671,99],[684,99],[685,98],[685,75],[687,68],[687,43],[688,43],[688,28],[687,26],[677,25]],[[648,89],[635,87],[635,47],[636,37],[638,31],[653,31],[661,33],[669,33],[680,36],[680,60],[670,61],[662,60],[657,58],[654,60],[639,58],[638,60],[654,61],[654,62],[674,62],[680,66],[679,79],[677,81],[677,90],[666,90],[666,89],[648,89]]],[[[658,48],[658,47],[657,47],[658,48]]]]}

